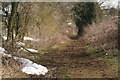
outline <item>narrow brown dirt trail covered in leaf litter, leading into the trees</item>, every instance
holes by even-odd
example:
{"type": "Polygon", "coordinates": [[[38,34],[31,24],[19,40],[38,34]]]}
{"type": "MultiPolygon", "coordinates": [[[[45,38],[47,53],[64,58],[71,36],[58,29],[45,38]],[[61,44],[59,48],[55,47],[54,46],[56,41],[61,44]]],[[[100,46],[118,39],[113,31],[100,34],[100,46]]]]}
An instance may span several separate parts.
{"type": "Polygon", "coordinates": [[[49,72],[45,76],[47,78],[115,77],[116,70],[108,72],[111,68],[109,69],[109,65],[102,60],[103,58],[97,59],[86,53],[81,40],[78,39],[72,40],[71,44],[64,49],[43,55],[38,63],[49,68],[49,72]]]}

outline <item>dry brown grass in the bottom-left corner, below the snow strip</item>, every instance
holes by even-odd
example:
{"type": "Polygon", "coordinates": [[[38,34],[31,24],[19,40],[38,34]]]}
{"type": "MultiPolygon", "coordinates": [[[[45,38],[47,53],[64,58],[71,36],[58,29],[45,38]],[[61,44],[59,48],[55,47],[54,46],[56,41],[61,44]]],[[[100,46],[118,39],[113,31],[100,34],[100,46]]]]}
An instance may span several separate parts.
{"type": "Polygon", "coordinates": [[[22,78],[28,77],[21,71],[22,64],[13,58],[2,57],[2,78],[22,78]]]}

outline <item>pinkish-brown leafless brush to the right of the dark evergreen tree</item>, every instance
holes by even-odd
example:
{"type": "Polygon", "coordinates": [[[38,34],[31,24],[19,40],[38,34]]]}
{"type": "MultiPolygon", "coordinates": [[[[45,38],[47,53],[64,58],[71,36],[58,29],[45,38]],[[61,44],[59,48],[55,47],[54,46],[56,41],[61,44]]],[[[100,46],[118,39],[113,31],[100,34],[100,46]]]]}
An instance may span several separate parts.
{"type": "Polygon", "coordinates": [[[87,45],[104,51],[117,49],[118,27],[116,19],[105,17],[101,22],[84,28],[83,38],[87,45]]]}

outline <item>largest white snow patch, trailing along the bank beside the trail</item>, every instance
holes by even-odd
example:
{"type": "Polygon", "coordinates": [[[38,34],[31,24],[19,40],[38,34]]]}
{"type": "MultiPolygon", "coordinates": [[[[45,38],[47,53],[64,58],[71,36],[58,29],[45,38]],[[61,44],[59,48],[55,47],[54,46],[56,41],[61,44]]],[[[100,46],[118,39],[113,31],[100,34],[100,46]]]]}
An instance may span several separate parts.
{"type": "Polygon", "coordinates": [[[23,64],[22,72],[26,74],[36,74],[36,75],[45,75],[48,72],[48,69],[42,65],[32,62],[29,59],[19,58],[12,56],[11,54],[5,54],[5,49],[0,47],[0,53],[3,53],[3,56],[13,57],[15,60],[18,60],[23,64]]]}

